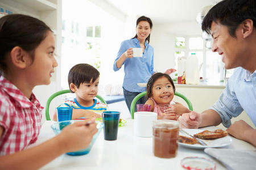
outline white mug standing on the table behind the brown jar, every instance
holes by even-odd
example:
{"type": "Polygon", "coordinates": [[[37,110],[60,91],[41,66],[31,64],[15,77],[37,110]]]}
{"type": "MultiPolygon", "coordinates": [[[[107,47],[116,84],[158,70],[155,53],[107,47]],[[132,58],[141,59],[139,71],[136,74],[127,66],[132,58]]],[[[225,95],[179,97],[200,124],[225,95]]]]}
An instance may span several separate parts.
{"type": "Polygon", "coordinates": [[[135,112],[134,113],[134,134],[137,137],[152,137],[153,121],[158,119],[155,112],[135,112]]]}

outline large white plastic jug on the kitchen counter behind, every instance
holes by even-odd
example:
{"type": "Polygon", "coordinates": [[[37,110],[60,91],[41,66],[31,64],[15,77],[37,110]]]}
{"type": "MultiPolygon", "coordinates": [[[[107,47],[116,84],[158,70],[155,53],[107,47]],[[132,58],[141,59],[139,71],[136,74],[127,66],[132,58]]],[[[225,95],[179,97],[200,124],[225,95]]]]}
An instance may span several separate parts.
{"type": "Polygon", "coordinates": [[[191,53],[186,60],[186,84],[199,84],[199,67],[196,53],[191,53]]]}

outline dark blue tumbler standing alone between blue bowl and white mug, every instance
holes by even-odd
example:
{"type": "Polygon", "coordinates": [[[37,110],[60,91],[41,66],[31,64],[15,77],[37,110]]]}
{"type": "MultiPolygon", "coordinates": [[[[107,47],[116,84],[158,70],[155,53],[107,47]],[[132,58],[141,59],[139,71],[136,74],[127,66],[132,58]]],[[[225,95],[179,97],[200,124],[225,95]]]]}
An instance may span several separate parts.
{"type": "Polygon", "coordinates": [[[120,112],[105,111],[102,112],[104,122],[104,139],[106,141],[117,140],[120,112]]]}

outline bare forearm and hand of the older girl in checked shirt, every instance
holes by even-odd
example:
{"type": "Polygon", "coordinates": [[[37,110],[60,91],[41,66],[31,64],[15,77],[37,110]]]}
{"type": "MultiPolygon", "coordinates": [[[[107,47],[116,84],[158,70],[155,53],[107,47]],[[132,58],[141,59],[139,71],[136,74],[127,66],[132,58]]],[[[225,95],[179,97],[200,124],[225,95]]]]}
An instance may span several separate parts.
{"type": "MultiPolygon", "coordinates": [[[[97,132],[96,124],[84,126],[85,123],[86,121],[82,121],[69,125],[59,135],[38,146],[0,156],[0,169],[39,169],[65,152],[85,148],[97,132]]],[[[1,131],[3,132],[2,126],[0,133],[1,131]]]]}

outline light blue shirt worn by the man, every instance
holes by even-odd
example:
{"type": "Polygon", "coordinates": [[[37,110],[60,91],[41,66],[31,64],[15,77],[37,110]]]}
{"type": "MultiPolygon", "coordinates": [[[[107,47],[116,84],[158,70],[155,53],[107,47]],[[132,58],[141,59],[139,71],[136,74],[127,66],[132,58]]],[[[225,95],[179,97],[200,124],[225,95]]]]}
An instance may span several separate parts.
{"type": "Polygon", "coordinates": [[[210,109],[220,114],[226,128],[231,125],[230,119],[243,110],[256,126],[256,70],[251,74],[242,67],[235,69],[220,98],[210,109]]]}

